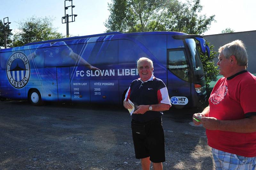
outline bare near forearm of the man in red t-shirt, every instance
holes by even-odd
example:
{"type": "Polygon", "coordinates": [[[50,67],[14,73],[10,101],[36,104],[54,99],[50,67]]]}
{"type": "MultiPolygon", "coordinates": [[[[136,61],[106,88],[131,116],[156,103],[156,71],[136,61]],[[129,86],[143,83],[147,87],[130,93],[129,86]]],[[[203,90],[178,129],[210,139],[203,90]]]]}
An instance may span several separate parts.
{"type": "Polygon", "coordinates": [[[201,120],[204,128],[210,130],[223,130],[238,133],[256,132],[256,115],[239,120],[218,120],[214,117],[203,117],[201,120]]]}

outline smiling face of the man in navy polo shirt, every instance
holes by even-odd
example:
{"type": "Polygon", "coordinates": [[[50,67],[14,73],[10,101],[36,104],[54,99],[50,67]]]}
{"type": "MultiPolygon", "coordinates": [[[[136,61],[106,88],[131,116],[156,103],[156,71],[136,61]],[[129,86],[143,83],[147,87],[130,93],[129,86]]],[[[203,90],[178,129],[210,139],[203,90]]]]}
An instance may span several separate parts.
{"type": "Polygon", "coordinates": [[[152,76],[153,68],[151,68],[150,63],[147,60],[142,60],[138,64],[138,72],[140,79],[142,81],[147,81],[152,76]]]}

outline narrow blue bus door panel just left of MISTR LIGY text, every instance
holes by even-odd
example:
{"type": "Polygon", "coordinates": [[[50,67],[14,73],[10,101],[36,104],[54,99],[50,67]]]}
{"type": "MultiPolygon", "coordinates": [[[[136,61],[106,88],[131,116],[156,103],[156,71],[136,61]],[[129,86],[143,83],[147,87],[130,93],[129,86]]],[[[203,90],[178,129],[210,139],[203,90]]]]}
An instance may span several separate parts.
{"type": "Polygon", "coordinates": [[[57,67],[58,101],[71,101],[69,67],[57,67]]]}

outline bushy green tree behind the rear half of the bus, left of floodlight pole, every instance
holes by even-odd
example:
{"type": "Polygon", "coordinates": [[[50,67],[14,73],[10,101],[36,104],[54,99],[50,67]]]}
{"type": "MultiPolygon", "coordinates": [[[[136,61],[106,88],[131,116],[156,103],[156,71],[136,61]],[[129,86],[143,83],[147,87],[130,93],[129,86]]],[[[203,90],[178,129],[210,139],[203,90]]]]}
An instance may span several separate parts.
{"type": "Polygon", "coordinates": [[[32,16],[19,23],[19,31],[13,35],[12,47],[23,46],[30,42],[46,41],[63,38],[57,28],[53,27],[54,18],[32,16]]]}

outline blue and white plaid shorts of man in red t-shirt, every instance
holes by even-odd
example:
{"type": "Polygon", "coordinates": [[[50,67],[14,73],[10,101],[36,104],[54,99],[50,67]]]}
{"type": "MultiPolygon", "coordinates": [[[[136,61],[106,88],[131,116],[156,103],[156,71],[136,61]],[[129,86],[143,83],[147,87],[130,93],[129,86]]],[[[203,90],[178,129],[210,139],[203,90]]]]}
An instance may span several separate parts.
{"type": "Polygon", "coordinates": [[[244,157],[212,148],[216,170],[255,170],[256,158],[244,157]]]}

